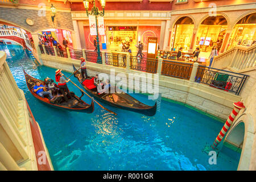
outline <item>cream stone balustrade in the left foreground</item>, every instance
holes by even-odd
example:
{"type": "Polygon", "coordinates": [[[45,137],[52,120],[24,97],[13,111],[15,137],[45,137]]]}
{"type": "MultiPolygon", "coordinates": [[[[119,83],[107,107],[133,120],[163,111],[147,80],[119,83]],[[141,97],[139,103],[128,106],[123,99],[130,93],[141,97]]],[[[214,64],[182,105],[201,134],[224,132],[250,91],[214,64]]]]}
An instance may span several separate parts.
{"type": "Polygon", "coordinates": [[[38,170],[31,115],[6,63],[6,53],[0,51],[0,171],[38,170]]]}

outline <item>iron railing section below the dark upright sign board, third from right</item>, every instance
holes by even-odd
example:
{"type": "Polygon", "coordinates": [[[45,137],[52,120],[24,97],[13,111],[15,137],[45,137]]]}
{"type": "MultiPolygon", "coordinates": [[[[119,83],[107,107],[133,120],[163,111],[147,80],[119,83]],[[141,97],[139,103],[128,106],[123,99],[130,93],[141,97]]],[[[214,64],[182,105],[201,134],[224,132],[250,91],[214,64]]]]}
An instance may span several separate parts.
{"type": "Polygon", "coordinates": [[[130,68],[148,73],[156,73],[158,69],[158,60],[131,56],[130,68]]]}

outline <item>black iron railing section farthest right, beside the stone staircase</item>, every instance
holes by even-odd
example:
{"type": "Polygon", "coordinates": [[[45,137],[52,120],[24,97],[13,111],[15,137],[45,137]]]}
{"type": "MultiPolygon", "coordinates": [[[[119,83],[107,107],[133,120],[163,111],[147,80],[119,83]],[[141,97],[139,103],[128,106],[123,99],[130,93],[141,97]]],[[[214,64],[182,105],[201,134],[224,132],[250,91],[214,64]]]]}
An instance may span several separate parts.
{"type": "Polygon", "coordinates": [[[239,95],[247,77],[249,76],[199,65],[195,82],[207,84],[214,88],[239,95]]]}

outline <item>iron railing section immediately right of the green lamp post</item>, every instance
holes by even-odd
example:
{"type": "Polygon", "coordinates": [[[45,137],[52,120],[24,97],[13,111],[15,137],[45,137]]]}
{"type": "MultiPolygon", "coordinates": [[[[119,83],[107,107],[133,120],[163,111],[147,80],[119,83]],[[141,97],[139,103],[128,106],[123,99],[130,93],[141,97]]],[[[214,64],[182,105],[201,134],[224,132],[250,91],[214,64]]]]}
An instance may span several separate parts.
{"type": "Polygon", "coordinates": [[[105,53],[106,64],[115,67],[126,67],[126,55],[118,55],[114,53],[105,53]]]}

